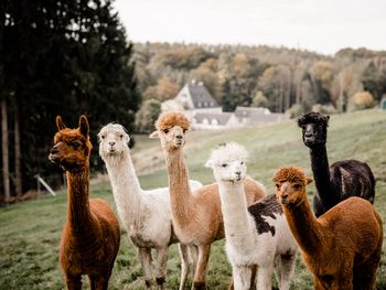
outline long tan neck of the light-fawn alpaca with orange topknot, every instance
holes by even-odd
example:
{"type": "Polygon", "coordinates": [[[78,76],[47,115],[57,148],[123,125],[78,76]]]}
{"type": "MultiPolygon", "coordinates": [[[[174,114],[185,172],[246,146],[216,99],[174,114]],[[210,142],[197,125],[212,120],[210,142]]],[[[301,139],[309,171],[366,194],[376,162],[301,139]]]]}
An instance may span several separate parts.
{"type": "Polygon", "coordinates": [[[169,150],[165,160],[172,215],[175,222],[183,226],[192,218],[191,189],[183,150],[169,150]]]}

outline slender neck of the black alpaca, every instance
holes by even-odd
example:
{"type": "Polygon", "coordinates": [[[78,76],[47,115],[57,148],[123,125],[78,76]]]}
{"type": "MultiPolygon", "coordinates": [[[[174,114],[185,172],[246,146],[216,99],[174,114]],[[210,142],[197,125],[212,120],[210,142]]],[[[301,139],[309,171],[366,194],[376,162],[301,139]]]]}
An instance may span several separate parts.
{"type": "Polygon", "coordinates": [[[330,186],[331,174],[325,144],[310,148],[310,153],[317,191],[326,206],[331,207],[335,204],[335,198],[330,186]]]}

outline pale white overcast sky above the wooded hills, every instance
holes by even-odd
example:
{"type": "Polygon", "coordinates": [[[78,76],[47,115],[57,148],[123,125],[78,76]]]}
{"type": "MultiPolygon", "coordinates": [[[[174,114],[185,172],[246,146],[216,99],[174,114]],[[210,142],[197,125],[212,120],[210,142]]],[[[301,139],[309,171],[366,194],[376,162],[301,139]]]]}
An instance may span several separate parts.
{"type": "Polygon", "coordinates": [[[132,42],[386,50],[386,0],[116,0],[132,42]]]}

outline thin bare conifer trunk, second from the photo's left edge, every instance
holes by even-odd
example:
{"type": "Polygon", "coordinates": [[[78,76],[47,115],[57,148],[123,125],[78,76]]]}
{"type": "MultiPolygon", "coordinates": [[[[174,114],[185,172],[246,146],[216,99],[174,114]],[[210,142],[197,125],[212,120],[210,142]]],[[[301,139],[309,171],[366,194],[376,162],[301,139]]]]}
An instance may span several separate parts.
{"type": "Polygon", "coordinates": [[[22,175],[21,175],[21,146],[20,146],[20,122],[19,122],[19,103],[15,97],[14,101],[14,193],[20,196],[23,193],[22,190],[22,175]]]}

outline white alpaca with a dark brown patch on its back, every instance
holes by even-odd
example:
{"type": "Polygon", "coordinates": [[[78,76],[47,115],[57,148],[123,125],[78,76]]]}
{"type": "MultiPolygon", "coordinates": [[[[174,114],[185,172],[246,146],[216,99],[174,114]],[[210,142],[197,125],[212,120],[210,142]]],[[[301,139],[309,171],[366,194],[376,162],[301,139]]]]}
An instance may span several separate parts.
{"type": "Polygon", "coordinates": [[[253,289],[257,275],[256,289],[271,290],[276,268],[280,289],[289,289],[298,246],[275,195],[247,207],[246,159],[244,147],[229,142],[215,149],[205,164],[213,169],[218,184],[234,287],[253,289]]]}

